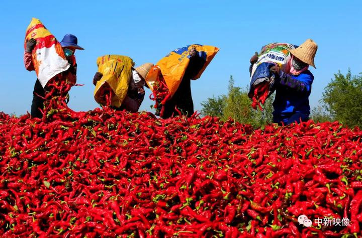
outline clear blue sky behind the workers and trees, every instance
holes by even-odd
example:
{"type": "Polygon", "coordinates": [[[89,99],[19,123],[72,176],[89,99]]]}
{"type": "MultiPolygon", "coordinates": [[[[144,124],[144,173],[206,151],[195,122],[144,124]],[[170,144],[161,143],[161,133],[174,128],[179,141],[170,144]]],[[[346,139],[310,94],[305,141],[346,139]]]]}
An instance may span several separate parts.
{"type": "MultiPolygon", "coordinates": [[[[171,50],[194,43],[220,48],[197,81],[192,82],[195,108],[213,95],[249,83],[249,58],[272,42],[299,45],[311,38],[318,44],[317,69],[310,96],[318,105],[324,87],[341,70],[362,72],[362,1],[3,1],[0,37],[0,111],[30,111],[35,72],[24,68],[25,30],[32,17],[60,41],[67,33],[85,48],[77,51],[78,83],[70,91],[69,107],[98,106],[92,79],[96,59],[127,55],[137,65],[156,63],[171,50]]],[[[146,97],[150,91],[146,90],[146,97]]],[[[150,110],[150,100],[141,109],[150,110]]]]}

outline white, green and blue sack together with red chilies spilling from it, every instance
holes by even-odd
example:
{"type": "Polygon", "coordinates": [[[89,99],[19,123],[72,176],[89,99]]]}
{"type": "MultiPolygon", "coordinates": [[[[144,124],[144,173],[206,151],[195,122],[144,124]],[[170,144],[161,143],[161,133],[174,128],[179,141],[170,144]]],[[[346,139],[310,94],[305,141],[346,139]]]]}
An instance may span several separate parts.
{"type": "Polygon", "coordinates": [[[272,43],[261,48],[258,60],[253,65],[250,77],[250,87],[248,96],[253,99],[252,107],[256,109],[258,105],[264,104],[266,98],[275,91],[274,75],[269,69],[278,64],[284,72],[289,72],[289,62],[291,60],[290,50],[295,49],[294,45],[287,43],[272,43]]]}

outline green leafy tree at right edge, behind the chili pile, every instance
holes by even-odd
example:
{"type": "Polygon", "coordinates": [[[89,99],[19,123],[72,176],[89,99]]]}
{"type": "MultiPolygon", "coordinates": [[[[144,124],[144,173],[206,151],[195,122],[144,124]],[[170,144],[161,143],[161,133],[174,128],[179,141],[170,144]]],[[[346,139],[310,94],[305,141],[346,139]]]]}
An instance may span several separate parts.
{"type": "Polygon", "coordinates": [[[325,87],[321,102],[336,121],[348,127],[362,128],[362,74],[346,75],[338,71],[325,87]]]}

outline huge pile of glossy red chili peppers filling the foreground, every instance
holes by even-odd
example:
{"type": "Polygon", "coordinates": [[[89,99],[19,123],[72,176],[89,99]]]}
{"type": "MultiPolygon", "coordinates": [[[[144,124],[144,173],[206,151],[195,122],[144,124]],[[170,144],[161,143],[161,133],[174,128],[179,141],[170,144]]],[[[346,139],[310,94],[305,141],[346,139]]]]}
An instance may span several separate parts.
{"type": "Polygon", "coordinates": [[[75,112],[54,88],[42,120],[0,113],[2,237],[361,235],[357,128],[75,112]]]}

